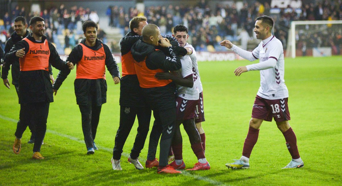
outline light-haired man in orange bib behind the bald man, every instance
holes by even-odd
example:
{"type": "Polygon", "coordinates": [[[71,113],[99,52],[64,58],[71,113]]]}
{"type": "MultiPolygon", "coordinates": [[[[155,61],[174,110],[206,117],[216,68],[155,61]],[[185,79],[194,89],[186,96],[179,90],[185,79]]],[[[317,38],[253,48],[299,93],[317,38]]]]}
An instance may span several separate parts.
{"type": "Polygon", "coordinates": [[[113,170],[122,170],[120,158],[122,148],[132,129],[135,117],[138,118],[139,127],[128,161],[136,169],[144,169],[138,160],[141,150],[144,148],[146,136],[151,119],[151,110],[147,108],[142,96],[139,81],[136,76],[131,48],[140,39],[143,27],[147,25],[144,16],[133,17],[129,23],[131,31],[121,38],[121,67],[122,77],[120,81],[120,124],[115,136],[115,146],[113,148],[113,158],[111,159],[113,170]]]}

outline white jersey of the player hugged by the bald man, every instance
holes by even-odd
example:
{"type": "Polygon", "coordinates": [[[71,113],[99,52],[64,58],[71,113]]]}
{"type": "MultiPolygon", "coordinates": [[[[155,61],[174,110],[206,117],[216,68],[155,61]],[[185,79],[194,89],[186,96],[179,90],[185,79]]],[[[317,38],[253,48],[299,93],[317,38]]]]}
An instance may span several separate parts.
{"type": "MultiPolygon", "coordinates": [[[[182,68],[173,73],[176,73],[177,76],[187,78],[189,76],[193,77],[193,66],[189,55],[185,55],[180,58],[182,63],[182,68]]],[[[194,82],[194,86],[192,88],[183,87],[177,85],[177,96],[187,99],[187,100],[198,100],[199,92],[198,88],[194,82]]]]}

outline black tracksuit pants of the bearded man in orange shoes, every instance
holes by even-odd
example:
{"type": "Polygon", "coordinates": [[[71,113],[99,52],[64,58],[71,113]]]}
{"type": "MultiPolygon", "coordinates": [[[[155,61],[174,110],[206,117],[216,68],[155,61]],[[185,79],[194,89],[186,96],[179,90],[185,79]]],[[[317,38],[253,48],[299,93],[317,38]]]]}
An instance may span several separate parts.
{"type": "Polygon", "coordinates": [[[15,136],[21,138],[26,127],[31,121],[36,122],[34,152],[39,152],[46,132],[46,123],[49,114],[49,102],[22,103],[20,104],[19,120],[15,136]]]}

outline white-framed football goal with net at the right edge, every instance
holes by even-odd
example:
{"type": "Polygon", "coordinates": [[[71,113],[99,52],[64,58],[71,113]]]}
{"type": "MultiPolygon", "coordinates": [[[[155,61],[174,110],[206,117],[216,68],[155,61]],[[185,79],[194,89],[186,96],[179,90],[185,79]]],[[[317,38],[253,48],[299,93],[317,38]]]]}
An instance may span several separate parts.
{"type": "MultiPolygon", "coordinates": [[[[296,57],[298,42],[303,53],[306,53],[306,49],[312,49],[311,51],[314,53],[317,53],[318,49],[323,51],[325,49],[329,51],[330,49],[331,51],[331,46],[329,46],[331,44],[324,39],[331,40],[336,35],[342,35],[342,20],[292,21],[288,33],[287,57],[296,57]]],[[[341,43],[337,43],[337,45],[341,45],[341,43]]],[[[337,47],[337,49],[341,50],[339,47],[337,47]]]]}

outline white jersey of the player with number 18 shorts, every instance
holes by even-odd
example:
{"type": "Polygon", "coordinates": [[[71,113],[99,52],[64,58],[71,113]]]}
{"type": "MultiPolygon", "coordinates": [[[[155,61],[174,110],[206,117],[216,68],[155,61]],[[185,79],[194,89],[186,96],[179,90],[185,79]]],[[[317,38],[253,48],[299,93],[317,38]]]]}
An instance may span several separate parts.
{"type": "MultiPolygon", "coordinates": [[[[275,59],[274,68],[260,70],[260,88],[258,96],[265,99],[282,99],[289,97],[289,92],[284,80],[284,51],[281,41],[275,36],[271,36],[262,40],[257,48],[252,51],[255,59],[259,59],[259,63],[270,58],[275,59]]],[[[247,65],[247,69],[253,69],[255,65],[247,65]]]]}

